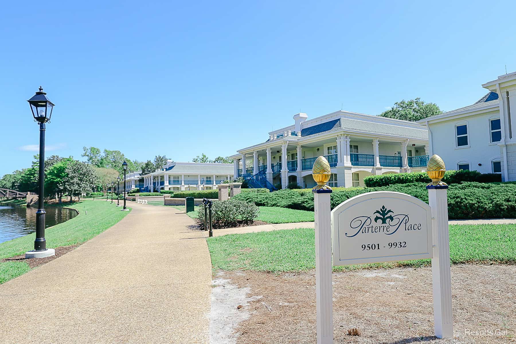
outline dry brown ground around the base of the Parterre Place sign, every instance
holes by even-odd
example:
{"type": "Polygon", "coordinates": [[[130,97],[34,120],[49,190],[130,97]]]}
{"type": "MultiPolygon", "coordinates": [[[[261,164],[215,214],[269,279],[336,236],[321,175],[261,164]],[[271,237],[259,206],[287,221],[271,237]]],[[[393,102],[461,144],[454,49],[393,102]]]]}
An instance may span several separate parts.
{"type": "MultiPolygon", "coordinates": [[[[316,343],[314,271],[225,271],[220,278],[256,297],[240,307],[251,316],[236,328],[238,344],[316,343]]],[[[516,266],[456,265],[451,280],[455,338],[438,339],[430,267],[333,273],[334,342],[516,343],[516,266]],[[496,330],[505,332],[468,332],[496,330]]]]}

